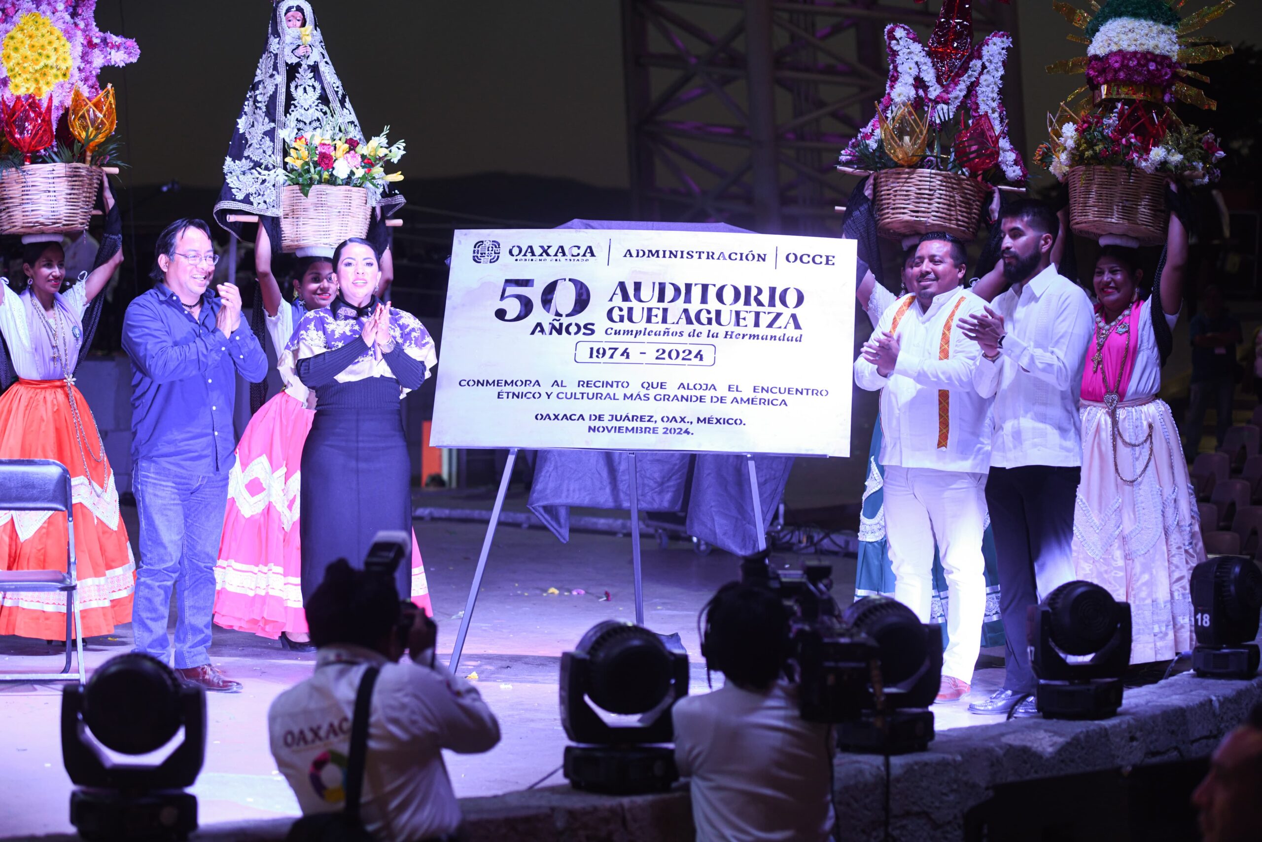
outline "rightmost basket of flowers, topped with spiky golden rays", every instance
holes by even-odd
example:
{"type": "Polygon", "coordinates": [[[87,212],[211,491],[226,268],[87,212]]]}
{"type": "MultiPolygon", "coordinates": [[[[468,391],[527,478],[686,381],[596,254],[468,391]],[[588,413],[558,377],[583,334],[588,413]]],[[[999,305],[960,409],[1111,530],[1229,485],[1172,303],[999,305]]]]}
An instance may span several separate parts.
{"type": "Polygon", "coordinates": [[[1054,6],[1087,37],[1087,56],[1058,62],[1049,73],[1084,73],[1087,85],[1049,115],[1050,140],[1035,160],[1065,182],[1076,234],[1160,242],[1167,212],[1164,184],[1175,178],[1206,184],[1219,178],[1223,150],[1212,131],[1186,125],[1170,105],[1217,104],[1184,80],[1208,81],[1189,64],[1232,53],[1230,45],[1194,37],[1234,4],[1180,18],[1181,0],[1106,0],[1094,13],[1054,6]]]}

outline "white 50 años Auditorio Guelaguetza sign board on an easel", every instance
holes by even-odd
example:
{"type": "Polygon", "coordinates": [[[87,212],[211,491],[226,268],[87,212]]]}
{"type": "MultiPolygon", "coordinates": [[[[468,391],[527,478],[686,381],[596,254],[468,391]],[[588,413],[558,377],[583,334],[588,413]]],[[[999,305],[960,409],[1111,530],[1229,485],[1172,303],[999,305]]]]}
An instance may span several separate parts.
{"type": "Polygon", "coordinates": [[[457,231],[434,447],[848,456],[853,240],[457,231]]]}

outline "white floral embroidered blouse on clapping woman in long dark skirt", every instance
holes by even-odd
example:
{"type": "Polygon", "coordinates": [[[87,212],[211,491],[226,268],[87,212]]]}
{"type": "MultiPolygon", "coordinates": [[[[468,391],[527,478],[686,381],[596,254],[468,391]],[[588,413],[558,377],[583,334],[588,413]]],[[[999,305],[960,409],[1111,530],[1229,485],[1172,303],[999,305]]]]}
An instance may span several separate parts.
{"type": "Polygon", "coordinates": [[[303,316],[276,362],[281,379],[285,382],[298,380],[318,391],[321,385],[334,381],[391,377],[399,381],[400,399],[418,389],[438,364],[434,340],[415,316],[392,309],[394,350],[379,359],[361,338],[372,309],[357,311],[334,298],[329,307],[303,316]]]}

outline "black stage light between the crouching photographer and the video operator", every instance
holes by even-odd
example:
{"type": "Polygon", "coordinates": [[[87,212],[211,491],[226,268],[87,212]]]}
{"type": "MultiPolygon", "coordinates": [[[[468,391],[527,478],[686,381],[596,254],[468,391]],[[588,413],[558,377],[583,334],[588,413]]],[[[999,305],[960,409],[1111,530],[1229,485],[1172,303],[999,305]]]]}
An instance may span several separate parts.
{"type": "Polygon", "coordinates": [[[670,707],[688,694],[688,653],[678,637],[606,620],[560,659],[560,721],[577,744],[565,746],[564,773],[574,789],[655,793],[679,779],[670,707]],[[610,715],[635,716],[628,725],[610,715]]]}

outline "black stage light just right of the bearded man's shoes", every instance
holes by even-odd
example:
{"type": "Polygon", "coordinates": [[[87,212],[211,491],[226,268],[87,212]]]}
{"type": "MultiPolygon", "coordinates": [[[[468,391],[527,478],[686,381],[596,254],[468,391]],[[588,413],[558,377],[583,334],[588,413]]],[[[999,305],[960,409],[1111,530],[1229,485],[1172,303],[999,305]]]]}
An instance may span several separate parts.
{"type": "Polygon", "coordinates": [[[1107,720],[1122,707],[1131,606],[1098,584],[1066,582],[1030,608],[1035,702],[1049,720],[1107,720]],[[1085,658],[1070,663],[1068,656],[1085,658]]]}

